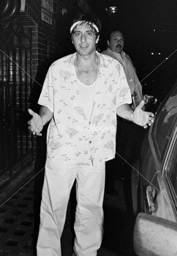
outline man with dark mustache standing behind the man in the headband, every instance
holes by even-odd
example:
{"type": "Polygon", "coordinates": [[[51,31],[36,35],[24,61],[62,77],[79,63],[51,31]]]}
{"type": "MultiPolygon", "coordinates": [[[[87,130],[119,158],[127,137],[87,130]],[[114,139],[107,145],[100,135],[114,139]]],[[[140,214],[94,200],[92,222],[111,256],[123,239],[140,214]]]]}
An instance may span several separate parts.
{"type": "MultiPolygon", "coordinates": [[[[102,54],[108,55],[121,63],[132,95],[132,108],[135,109],[142,100],[142,87],[129,55],[123,51],[124,35],[122,31],[111,31],[108,35],[107,44],[108,48],[103,51],[102,54]]],[[[137,125],[131,125],[128,121],[119,117],[117,118],[117,127],[116,152],[128,163],[132,164],[134,159],[138,156],[143,131],[137,125]]],[[[118,168],[116,166],[119,166],[119,172],[124,176],[124,191],[126,187],[131,188],[129,183],[125,185],[125,183],[129,182],[131,179],[131,167],[126,164],[118,154],[106,164],[105,191],[111,195],[117,195],[117,191],[114,188],[115,176],[119,176],[118,168]],[[126,179],[126,176],[128,176],[129,179],[126,179]]],[[[129,193],[126,191],[124,194],[126,198],[126,195],[129,193]]],[[[129,201],[129,198],[127,198],[127,201],[129,201]]],[[[130,206],[130,203],[128,202],[127,205],[130,206]]]]}

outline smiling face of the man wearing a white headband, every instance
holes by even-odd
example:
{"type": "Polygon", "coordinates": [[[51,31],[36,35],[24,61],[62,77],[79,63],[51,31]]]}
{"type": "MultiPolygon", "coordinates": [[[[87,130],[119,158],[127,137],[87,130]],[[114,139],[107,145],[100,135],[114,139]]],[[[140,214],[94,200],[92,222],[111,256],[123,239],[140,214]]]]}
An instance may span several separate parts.
{"type": "Polygon", "coordinates": [[[74,28],[72,42],[76,51],[84,56],[95,51],[95,44],[98,42],[98,38],[96,39],[94,29],[92,29],[90,25],[87,23],[82,25],[78,24],[74,28]]]}

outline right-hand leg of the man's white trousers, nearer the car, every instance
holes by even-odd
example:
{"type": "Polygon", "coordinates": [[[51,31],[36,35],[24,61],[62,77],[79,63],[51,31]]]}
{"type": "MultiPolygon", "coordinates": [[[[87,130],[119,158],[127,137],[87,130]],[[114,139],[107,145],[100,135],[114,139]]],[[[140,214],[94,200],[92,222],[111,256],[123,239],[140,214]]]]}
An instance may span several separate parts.
{"type": "Polygon", "coordinates": [[[74,252],[77,256],[96,256],[103,237],[103,196],[105,164],[99,168],[82,167],[76,176],[76,234],[74,252]]]}

